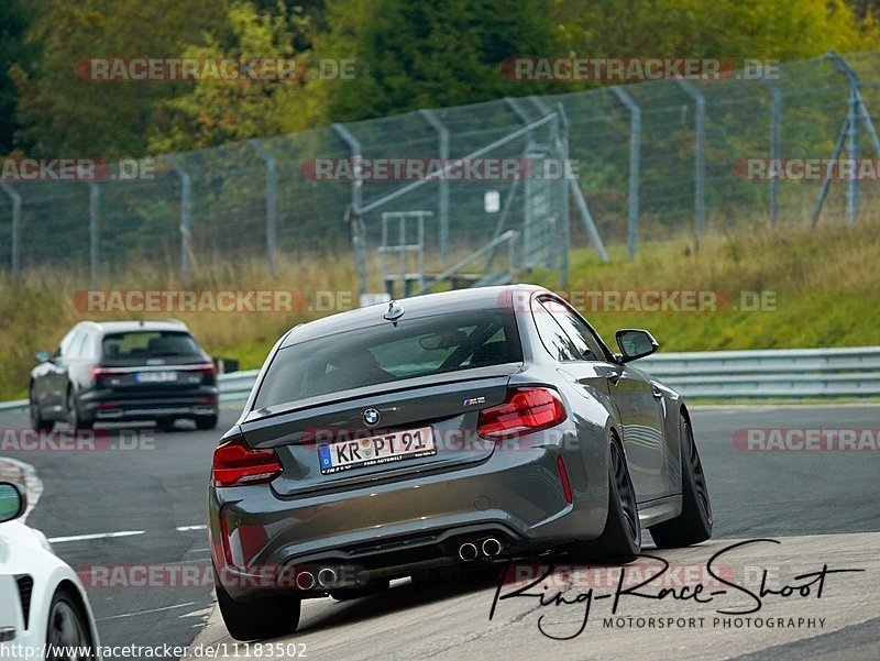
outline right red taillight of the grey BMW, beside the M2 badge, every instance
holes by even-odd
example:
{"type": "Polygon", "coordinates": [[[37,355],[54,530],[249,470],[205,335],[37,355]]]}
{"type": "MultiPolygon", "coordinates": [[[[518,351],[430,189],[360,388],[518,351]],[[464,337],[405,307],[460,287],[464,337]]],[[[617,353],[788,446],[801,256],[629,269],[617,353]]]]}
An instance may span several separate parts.
{"type": "Polygon", "coordinates": [[[480,411],[476,433],[498,440],[554,427],[565,418],[565,406],[556,390],[515,388],[504,404],[480,411]]]}

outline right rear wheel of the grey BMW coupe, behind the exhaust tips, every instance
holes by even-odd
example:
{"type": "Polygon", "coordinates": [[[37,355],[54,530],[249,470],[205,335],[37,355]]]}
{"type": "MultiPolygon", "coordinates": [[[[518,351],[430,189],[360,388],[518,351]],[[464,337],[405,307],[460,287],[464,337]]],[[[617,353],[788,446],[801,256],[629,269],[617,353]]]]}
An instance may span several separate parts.
{"type": "Polygon", "coordinates": [[[608,517],[602,535],[573,549],[579,560],[609,564],[632,562],[641,552],[641,526],[636,489],[626,456],[612,438],[608,445],[608,517]]]}

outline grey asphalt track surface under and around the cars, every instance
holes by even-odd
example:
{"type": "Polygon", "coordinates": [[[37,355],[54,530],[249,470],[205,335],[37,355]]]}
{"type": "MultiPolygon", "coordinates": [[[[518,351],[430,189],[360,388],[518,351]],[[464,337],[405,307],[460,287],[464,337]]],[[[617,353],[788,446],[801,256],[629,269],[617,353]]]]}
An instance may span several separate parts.
{"type": "MultiPolygon", "coordinates": [[[[681,594],[682,585],[689,585],[692,593],[702,583],[706,592],[701,598],[708,598],[711,591],[726,588],[711,603],[624,595],[618,617],[606,626],[613,597],[600,596],[615,592],[622,570],[563,566],[524,592],[546,587],[544,594],[562,592],[572,602],[581,595],[580,602],[541,606],[536,597],[498,599],[490,620],[496,596],[513,594],[525,587],[528,576],[538,576],[522,570],[520,583],[497,592],[497,572],[490,569],[457,582],[400,585],[343,603],[306,602],[300,631],[273,641],[283,648],[257,652],[253,646],[234,647],[213,607],[210,585],[127,587],[127,579],[120,584],[119,577],[134,575],[129,572],[114,574],[114,586],[89,588],[101,642],[189,645],[195,646],[189,652],[194,658],[210,658],[207,646],[221,646],[215,654],[240,659],[880,659],[880,452],[757,452],[734,444],[737,430],[749,428],[869,428],[876,438],[880,406],[713,407],[693,412],[715,535],[704,544],[673,551],[656,552],[648,543],[646,553],[671,566],[640,591],[657,595],[673,587],[681,594]],[[757,538],[781,543],[752,542],[724,552],[757,538]],[[809,583],[815,576],[795,577],[824,565],[864,571],[827,574],[821,596],[815,582],[806,596],[800,591],[789,597],[767,594],[760,612],[721,615],[718,610],[752,608],[756,599],[708,574],[706,563],[717,552],[716,572],[755,593],[765,570],[766,587],[776,590],[809,583]],[[584,595],[591,587],[584,625],[584,595]],[[544,635],[571,637],[582,625],[581,635],[569,640],[544,635]],[[288,645],[294,642],[297,647],[288,645]]],[[[220,428],[235,417],[234,410],[223,411],[220,428]]],[[[23,412],[0,415],[2,429],[25,426],[23,412]]],[[[120,566],[207,565],[205,487],[219,436],[182,425],[169,433],[146,430],[147,447],[140,450],[2,454],[33,465],[43,482],[42,498],[28,522],[61,538],[54,548],[72,566],[106,579],[120,566]],[[132,535],[76,539],[117,532],[132,535]],[[70,537],[75,539],[65,539],[70,537]]],[[[659,563],[644,559],[626,571],[630,586],[630,581],[659,572],[659,563]]]]}

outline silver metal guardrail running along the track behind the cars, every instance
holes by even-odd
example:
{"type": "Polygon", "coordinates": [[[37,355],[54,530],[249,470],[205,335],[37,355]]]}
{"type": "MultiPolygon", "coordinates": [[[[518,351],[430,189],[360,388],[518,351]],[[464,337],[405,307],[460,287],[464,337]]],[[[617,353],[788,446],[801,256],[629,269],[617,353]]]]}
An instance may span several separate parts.
{"type": "MultiPolygon", "coordinates": [[[[880,395],[880,346],[659,353],[635,365],[693,398],[880,395]]],[[[244,401],[257,374],[218,376],[220,401],[244,401]]],[[[23,408],[26,399],[0,403],[0,411],[23,408]]]]}

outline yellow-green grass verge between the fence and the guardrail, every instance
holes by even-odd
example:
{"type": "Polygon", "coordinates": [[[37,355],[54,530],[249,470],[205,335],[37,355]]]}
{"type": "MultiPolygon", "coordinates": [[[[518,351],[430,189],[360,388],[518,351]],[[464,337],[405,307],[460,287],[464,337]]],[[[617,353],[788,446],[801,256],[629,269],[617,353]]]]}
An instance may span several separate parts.
{"type": "MultiPolygon", "coordinates": [[[[645,243],[631,261],[623,250],[612,250],[607,264],[580,249],[572,252],[571,283],[564,289],[610,342],[619,328],[646,328],[667,351],[877,345],[879,229],[866,222],[815,232],[752,230],[710,236],[698,251],[681,241],[645,243]],[[690,296],[684,293],[714,293],[715,306],[688,311],[669,302],[646,310],[645,291],[679,293],[679,301],[690,296]],[[761,302],[759,309],[744,309],[744,304],[756,301],[761,302]]],[[[534,272],[521,279],[561,288],[551,273],[534,272]]],[[[57,345],[82,319],[173,316],[184,320],[211,354],[238,359],[246,370],[258,367],[292,326],[356,305],[356,276],[348,251],[338,257],[280,260],[275,278],[257,262],[237,263],[235,269],[202,268],[189,287],[304,291],[306,305],[293,313],[88,315],[74,304],[82,288],[76,283],[81,283],[78,272],[61,268],[30,273],[20,283],[0,279],[0,400],[24,397],[34,352],[57,345]]],[[[124,277],[101,286],[182,287],[148,264],[132,264],[124,277]]]]}

